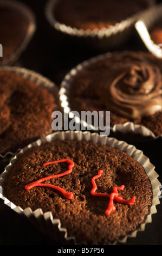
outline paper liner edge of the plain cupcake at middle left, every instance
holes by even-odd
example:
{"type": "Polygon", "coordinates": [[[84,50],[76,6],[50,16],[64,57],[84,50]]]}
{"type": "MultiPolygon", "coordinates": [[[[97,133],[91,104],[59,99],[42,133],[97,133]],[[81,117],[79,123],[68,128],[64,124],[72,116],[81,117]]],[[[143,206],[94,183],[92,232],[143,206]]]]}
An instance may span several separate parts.
{"type": "MultiPolygon", "coordinates": [[[[1,70],[11,71],[14,72],[17,75],[20,75],[24,77],[25,79],[32,81],[37,84],[37,86],[40,86],[42,88],[45,88],[48,90],[49,93],[53,94],[54,96],[58,97],[58,104],[59,102],[59,89],[57,88],[56,84],[54,82],[51,82],[48,78],[42,76],[41,74],[38,74],[37,72],[33,70],[28,70],[25,68],[20,68],[18,66],[1,66],[1,70]]],[[[17,149],[19,151],[20,149],[17,149]]],[[[17,153],[17,152],[16,152],[17,153]]],[[[0,161],[8,161],[11,156],[14,156],[15,152],[7,152],[4,155],[0,154],[0,161]]]]}

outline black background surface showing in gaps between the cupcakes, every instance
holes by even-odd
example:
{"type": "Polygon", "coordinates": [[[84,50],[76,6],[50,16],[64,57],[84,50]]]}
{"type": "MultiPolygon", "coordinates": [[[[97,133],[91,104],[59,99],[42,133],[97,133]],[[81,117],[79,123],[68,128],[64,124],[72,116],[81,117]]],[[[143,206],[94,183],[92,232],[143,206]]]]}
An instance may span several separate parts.
{"type": "MultiPolygon", "coordinates": [[[[44,15],[47,1],[24,0],[20,2],[26,3],[34,11],[37,30],[27,49],[14,64],[15,66],[34,70],[60,86],[63,77],[70,69],[83,60],[103,53],[55,31],[44,15]]],[[[147,51],[135,31],[124,45],[114,50],[147,51]]],[[[159,174],[159,181],[162,183],[161,139],[147,138],[144,140],[138,137],[138,140],[130,141],[131,136],[124,137],[119,133],[111,133],[110,136],[125,140],[144,151],[144,154],[155,166],[155,170],[159,174]]],[[[1,173],[3,170],[4,165],[1,166],[1,173]]],[[[152,216],[152,223],[146,225],[145,231],[138,232],[137,237],[128,239],[125,245],[162,245],[161,216],[162,204],[157,206],[157,214],[152,216]]],[[[25,218],[10,210],[0,199],[0,245],[56,245],[56,243],[40,233],[25,218]]]]}

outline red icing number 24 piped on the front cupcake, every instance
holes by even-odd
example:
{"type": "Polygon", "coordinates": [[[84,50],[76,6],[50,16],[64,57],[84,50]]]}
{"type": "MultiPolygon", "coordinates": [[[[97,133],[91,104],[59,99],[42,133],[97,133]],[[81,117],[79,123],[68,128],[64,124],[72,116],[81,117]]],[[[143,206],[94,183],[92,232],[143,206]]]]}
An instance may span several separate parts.
{"type": "MultiPolygon", "coordinates": [[[[49,179],[54,179],[54,178],[60,178],[61,176],[70,174],[72,172],[73,167],[74,167],[74,162],[70,159],[62,159],[62,160],[58,160],[58,161],[43,163],[43,167],[45,167],[49,164],[61,163],[61,162],[69,163],[69,167],[68,167],[68,170],[66,170],[66,172],[63,172],[63,173],[60,173],[60,174],[55,174],[55,175],[50,175],[50,176],[47,176],[47,177],[42,178],[40,180],[36,180],[36,181],[26,185],[25,189],[30,190],[31,188],[36,187],[36,186],[51,187],[51,188],[54,188],[55,190],[60,191],[63,194],[64,198],[72,199],[73,198],[73,193],[72,192],[66,192],[65,190],[63,190],[63,188],[58,187],[58,186],[54,186],[52,184],[42,183],[43,181],[46,181],[46,180],[49,180],[49,179]]],[[[100,178],[102,173],[103,173],[103,170],[99,170],[98,175],[96,175],[92,178],[93,188],[90,191],[90,194],[92,194],[92,196],[95,196],[95,197],[108,197],[109,198],[108,208],[105,211],[106,215],[109,215],[109,214],[111,214],[112,211],[115,211],[116,208],[114,206],[114,200],[116,202],[122,203],[122,204],[128,204],[128,205],[134,204],[135,197],[133,197],[131,200],[125,200],[122,197],[119,197],[118,190],[124,190],[124,185],[122,185],[120,187],[113,187],[113,192],[111,194],[96,193],[95,191],[97,190],[98,187],[96,186],[95,179],[100,178]]]]}

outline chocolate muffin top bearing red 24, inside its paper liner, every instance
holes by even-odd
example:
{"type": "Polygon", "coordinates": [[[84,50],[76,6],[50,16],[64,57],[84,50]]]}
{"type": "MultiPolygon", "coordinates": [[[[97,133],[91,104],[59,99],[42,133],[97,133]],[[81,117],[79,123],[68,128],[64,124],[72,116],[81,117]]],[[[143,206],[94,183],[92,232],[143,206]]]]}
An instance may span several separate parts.
{"type": "Polygon", "coordinates": [[[83,139],[35,145],[17,155],[5,177],[4,197],[22,209],[51,211],[78,244],[113,243],[150,214],[153,193],[145,169],[109,145],[83,139]]]}

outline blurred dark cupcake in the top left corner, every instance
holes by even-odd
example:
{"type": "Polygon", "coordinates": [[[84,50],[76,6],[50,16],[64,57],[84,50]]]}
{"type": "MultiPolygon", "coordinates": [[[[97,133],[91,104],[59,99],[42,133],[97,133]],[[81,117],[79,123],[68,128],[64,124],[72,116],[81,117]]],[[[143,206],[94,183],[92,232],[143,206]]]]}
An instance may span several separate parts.
{"type": "Polygon", "coordinates": [[[36,29],[35,16],[28,7],[16,1],[1,1],[0,16],[3,49],[0,64],[7,65],[14,63],[27,47],[36,29]]]}

